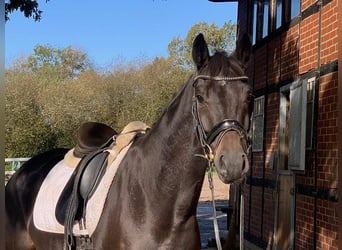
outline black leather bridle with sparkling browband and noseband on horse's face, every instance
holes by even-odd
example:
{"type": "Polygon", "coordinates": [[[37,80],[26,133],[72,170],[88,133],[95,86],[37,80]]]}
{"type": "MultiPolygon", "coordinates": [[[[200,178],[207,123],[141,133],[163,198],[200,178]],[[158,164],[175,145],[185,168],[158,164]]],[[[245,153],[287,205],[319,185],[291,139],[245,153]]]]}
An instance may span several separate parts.
{"type": "MultiPolygon", "coordinates": [[[[237,76],[237,77],[220,77],[220,76],[208,76],[208,75],[197,75],[194,78],[193,81],[193,87],[195,90],[195,83],[198,79],[203,79],[203,80],[213,80],[213,81],[225,81],[227,82],[230,81],[246,81],[248,80],[247,76],[237,76]]],[[[248,155],[248,151],[250,148],[250,140],[248,137],[247,130],[241,125],[240,122],[234,119],[224,119],[223,121],[217,123],[208,133],[205,132],[203,128],[203,124],[201,122],[201,119],[199,117],[199,111],[198,111],[198,100],[197,97],[195,96],[195,91],[193,95],[193,103],[192,103],[192,115],[195,120],[195,128],[197,131],[197,136],[200,140],[200,143],[202,145],[202,148],[204,149],[206,156],[210,159],[213,160],[214,155],[213,151],[211,149],[211,144],[215,141],[215,139],[219,137],[218,142],[220,143],[222,137],[229,131],[234,131],[238,133],[240,137],[240,142],[242,145],[242,148],[246,155],[248,155]]]]}

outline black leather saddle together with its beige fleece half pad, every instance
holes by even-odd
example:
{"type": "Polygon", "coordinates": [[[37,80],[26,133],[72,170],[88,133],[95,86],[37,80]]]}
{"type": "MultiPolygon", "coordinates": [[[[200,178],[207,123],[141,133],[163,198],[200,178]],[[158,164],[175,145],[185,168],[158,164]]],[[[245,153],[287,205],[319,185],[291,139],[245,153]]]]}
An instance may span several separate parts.
{"type": "MultiPolygon", "coordinates": [[[[121,134],[97,122],[87,122],[80,126],[77,131],[77,145],[71,151],[80,161],[77,161],[75,171],[62,191],[55,210],[57,221],[64,225],[67,248],[75,244],[72,232],[75,222],[79,222],[80,227],[86,229],[87,202],[94,194],[107,166],[122,148],[132,142],[136,136],[145,134],[147,129],[148,126],[141,122],[131,122],[121,134]]],[[[86,230],[81,238],[83,243],[87,242],[91,245],[86,230]]],[[[78,240],[76,238],[76,241],[78,240]]]]}

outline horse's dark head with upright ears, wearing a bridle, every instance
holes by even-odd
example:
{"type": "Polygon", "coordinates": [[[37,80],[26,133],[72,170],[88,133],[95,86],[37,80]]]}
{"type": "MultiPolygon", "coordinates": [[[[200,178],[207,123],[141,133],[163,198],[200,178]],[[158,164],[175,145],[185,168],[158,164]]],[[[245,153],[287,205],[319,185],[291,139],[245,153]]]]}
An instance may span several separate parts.
{"type": "Polygon", "coordinates": [[[224,183],[241,180],[249,169],[248,131],[253,100],[245,69],[250,48],[247,35],[237,43],[231,56],[224,52],[210,56],[202,34],[193,44],[192,56],[197,66],[193,115],[197,133],[224,183]]]}

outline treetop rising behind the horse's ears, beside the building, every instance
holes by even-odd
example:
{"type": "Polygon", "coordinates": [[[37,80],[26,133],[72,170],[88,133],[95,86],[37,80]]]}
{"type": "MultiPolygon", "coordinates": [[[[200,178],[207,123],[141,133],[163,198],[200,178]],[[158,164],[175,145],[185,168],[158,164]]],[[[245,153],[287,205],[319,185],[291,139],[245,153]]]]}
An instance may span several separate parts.
{"type": "Polygon", "coordinates": [[[209,52],[213,54],[217,50],[225,50],[231,53],[235,48],[236,24],[225,22],[221,28],[215,23],[200,22],[193,25],[184,40],[180,37],[172,39],[168,45],[169,56],[174,65],[192,68],[192,43],[194,38],[203,33],[208,43],[209,52]]]}

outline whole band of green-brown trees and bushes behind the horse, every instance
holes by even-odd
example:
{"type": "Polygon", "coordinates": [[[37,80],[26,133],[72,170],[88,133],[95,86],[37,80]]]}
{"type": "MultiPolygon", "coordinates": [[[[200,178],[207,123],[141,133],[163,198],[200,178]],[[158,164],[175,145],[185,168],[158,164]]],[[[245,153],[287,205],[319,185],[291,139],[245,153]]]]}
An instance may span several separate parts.
{"type": "Polygon", "coordinates": [[[222,37],[233,26],[194,25],[185,40],[171,41],[168,58],[117,64],[105,74],[94,70],[87,54],[77,48],[37,45],[32,55],[5,72],[6,157],[73,147],[75,132],[86,121],[117,131],[134,120],[153,125],[189,77],[186,48],[193,37],[202,32],[217,40],[207,39],[211,50],[231,50],[235,37],[229,43],[222,37]]]}

